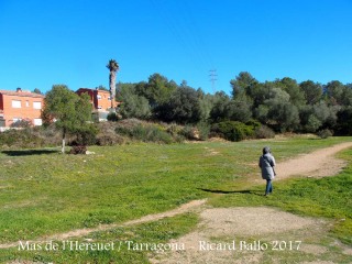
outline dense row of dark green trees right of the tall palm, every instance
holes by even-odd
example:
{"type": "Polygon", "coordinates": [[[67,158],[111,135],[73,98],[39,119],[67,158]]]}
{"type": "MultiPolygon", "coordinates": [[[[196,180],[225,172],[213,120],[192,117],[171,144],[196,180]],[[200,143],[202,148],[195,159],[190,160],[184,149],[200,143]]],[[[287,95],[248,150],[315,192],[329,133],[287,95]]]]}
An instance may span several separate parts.
{"type": "Polygon", "coordinates": [[[317,133],[329,130],[352,134],[352,84],[332,80],[326,85],[285,77],[261,82],[242,72],[230,81],[231,96],[177,85],[153,74],[147,81],[119,82],[117,100],[122,118],[180,124],[260,122],[275,132],[317,133]]]}

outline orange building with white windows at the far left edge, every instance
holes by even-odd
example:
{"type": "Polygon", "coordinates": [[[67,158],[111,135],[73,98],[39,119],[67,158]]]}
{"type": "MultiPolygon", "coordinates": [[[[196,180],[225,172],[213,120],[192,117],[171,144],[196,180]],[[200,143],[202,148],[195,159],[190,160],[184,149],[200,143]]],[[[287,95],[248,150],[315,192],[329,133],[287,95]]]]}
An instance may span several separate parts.
{"type": "Polygon", "coordinates": [[[29,120],[33,125],[42,125],[41,111],[44,96],[22,91],[0,90],[0,128],[9,128],[20,120],[29,120]]]}

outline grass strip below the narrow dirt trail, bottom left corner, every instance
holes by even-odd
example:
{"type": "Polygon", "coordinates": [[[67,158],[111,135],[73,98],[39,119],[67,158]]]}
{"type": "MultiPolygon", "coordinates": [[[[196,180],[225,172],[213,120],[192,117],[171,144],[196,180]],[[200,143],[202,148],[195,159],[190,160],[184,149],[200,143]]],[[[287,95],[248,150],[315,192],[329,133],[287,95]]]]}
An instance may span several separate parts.
{"type": "Polygon", "coordinates": [[[198,217],[194,213],[185,213],[174,218],[166,218],[155,222],[138,224],[134,227],[116,228],[105,232],[95,232],[85,238],[70,239],[69,241],[78,243],[95,243],[112,244],[113,248],[107,248],[103,251],[92,250],[76,250],[67,245],[65,241],[54,241],[52,244],[55,248],[46,248],[47,243],[41,243],[42,249],[28,251],[18,249],[9,249],[0,251],[0,262],[9,261],[33,261],[41,263],[148,263],[151,256],[157,257],[161,253],[167,254],[169,250],[166,244],[173,244],[174,249],[183,249],[182,244],[169,242],[172,239],[177,239],[184,233],[195,229],[198,222],[198,217]],[[121,243],[121,246],[120,246],[121,243]],[[148,250],[145,248],[133,248],[147,243],[151,245],[148,250]],[[157,250],[152,248],[153,243],[164,244],[157,250]],[[65,248],[64,248],[65,245],[65,248]],[[176,248],[178,246],[178,248],[176,248]]]}

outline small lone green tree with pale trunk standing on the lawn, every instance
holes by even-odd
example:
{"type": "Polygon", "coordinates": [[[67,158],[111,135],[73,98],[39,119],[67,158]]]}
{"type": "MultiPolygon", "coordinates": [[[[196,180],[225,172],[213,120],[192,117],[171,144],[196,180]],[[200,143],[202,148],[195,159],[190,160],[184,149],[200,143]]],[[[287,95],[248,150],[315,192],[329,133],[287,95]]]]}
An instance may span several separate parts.
{"type": "Polygon", "coordinates": [[[67,134],[82,135],[91,129],[87,122],[91,119],[89,96],[78,96],[65,85],[54,85],[46,94],[42,119],[44,124],[55,121],[55,127],[62,130],[62,153],[65,153],[67,134]]]}

